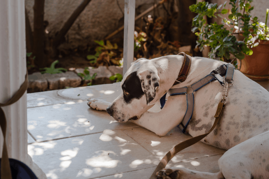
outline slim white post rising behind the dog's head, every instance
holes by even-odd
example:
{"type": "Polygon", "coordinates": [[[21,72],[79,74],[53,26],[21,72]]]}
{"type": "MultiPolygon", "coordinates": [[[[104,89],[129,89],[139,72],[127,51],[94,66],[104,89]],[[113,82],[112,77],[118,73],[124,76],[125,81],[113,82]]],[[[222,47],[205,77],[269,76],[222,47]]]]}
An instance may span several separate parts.
{"type": "Polygon", "coordinates": [[[125,0],[124,39],[123,39],[123,75],[134,60],[134,14],[135,0],[125,0]]]}

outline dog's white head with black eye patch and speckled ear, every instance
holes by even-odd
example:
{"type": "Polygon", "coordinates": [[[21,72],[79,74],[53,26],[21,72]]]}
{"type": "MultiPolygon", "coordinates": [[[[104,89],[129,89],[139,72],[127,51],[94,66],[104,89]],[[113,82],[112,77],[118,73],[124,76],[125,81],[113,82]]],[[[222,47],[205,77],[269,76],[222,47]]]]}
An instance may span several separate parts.
{"type": "Polygon", "coordinates": [[[109,105],[107,112],[119,122],[138,119],[156,102],[153,99],[160,86],[159,80],[157,68],[150,60],[139,59],[132,63],[121,82],[121,95],[109,105]]]}

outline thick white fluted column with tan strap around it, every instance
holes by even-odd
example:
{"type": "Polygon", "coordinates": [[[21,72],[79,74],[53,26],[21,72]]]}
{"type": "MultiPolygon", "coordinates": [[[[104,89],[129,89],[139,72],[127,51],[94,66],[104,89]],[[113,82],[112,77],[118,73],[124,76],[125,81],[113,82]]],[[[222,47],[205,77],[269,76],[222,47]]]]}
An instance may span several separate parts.
{"type": "MultiPolygon", "coordinates": [[[[20,88],[25,80],[24,0],[0,0],[0,12],[0,103],[3,103],[20,88]]],[[[47,178],[27,153],[26,92],[19,101],[2,109],[7,119],[8,157],[24,162],[39,179],[47,178]]],[[[0,157],[2,148],[1,131],[0,157]]]]}

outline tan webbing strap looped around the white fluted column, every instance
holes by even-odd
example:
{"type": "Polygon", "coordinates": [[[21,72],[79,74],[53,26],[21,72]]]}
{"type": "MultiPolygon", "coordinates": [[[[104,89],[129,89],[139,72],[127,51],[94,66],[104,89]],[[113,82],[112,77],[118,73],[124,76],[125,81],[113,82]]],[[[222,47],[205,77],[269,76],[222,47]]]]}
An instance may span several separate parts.
{"type": "Polygon", "coordinates": [[[10,164],[8,160],[8,150],[6,146],[7,122],[6,122],[5,113],[1,107],[11,105],[15,103],[16,101],[18,101],[22,97],[24,92],[27,90],[27,86],[28,86],[28,72],[26,70],[25,80],[20,86],[20,89],[10,99],[6,100],[6,102],[0,103],[0,126],[3,132],[3,137],[4,137],[0,172],[1,172],[1,178],[3,179],[12,179],[12,177],[11,177],[10,164]]]}

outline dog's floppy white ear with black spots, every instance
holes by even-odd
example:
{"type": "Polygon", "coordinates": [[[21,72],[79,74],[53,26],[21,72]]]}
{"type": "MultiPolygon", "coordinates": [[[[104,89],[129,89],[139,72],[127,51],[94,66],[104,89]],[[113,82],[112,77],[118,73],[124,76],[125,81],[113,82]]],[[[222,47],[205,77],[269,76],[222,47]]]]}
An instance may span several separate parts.
{"type": "Polygon", "coordinates": [[[139,72],[138,77],[141,81],[143,92],[146,94],[147,105],[155,98],[156,90],[159,89],[160,78],[156,72],[152,70],[144,70],[139,72]]]}

